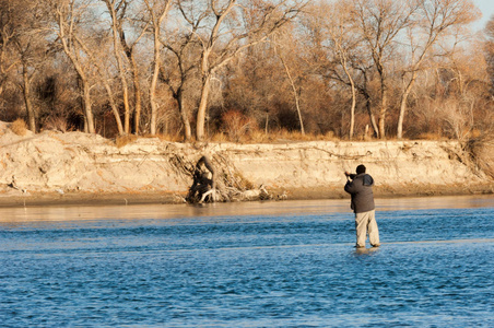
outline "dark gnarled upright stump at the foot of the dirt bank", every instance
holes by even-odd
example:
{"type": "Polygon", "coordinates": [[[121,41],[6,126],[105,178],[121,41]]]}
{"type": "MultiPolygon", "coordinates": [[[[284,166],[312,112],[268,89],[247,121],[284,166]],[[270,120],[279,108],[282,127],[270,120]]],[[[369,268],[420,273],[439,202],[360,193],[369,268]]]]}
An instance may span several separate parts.
{"type": "Polygon", "coordinates": [[[193,183],[189,188],[186,200],[188,202],[214,201],[216,190],[216,173],[207,156],[202,156],[196,164],[193,183]]]}

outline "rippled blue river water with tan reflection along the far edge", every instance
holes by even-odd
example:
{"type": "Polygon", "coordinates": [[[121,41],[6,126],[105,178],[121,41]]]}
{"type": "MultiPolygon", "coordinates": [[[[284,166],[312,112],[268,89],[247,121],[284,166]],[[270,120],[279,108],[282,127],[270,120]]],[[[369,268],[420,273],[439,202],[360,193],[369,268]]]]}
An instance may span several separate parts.
{"type": "Polygon", "coordinates": [[[0,209],[0,327],[494,327],[494,197],[0,209]]]}

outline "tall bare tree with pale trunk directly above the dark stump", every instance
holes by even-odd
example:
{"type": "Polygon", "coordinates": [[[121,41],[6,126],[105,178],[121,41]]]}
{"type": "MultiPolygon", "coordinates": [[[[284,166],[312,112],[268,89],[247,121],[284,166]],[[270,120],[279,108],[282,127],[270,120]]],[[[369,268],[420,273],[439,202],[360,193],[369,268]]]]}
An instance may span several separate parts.
{"type": "Polygon", "coordinates": [[[198,140],[204,139],[205,112],[213,74],[242,50],[267,40],[273,32],[293,20],[306,2],[306,0],[255,2],[209,0],[202,13],[195,15],[191,11],[195,8],[190,1],[178,1],[187,24],[195,26],[202,22],[204,25],[201,30],[207,31],[196,34],[202,46],[200,62],[202,86],[196,127],[198,140]]]}

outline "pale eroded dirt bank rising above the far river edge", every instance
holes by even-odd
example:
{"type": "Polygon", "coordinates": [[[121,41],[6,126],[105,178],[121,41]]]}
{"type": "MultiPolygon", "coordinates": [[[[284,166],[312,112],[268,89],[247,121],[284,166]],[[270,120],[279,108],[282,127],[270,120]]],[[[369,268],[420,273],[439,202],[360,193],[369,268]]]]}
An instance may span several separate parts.
{"type": "Polygon", "coordinates": [[[273,199],[346,197],[343,172],[361,163],[379,197],[494,191],[493,180],[466,165],[452,141],[199,145],[140,138],[117,148],[82,132],[21,137],[1,124],[0,204],[181,202],[189,171],[204,154],[235,200],[256,199],[245,191],[261,185],[273,199]]]}

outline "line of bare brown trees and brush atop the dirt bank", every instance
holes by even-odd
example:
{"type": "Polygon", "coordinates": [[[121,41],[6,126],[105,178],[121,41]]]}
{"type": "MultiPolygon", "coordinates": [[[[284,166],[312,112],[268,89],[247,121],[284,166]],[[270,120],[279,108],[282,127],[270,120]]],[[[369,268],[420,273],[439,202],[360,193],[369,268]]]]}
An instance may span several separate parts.
{"type": "Polygon", "coordinates": [[[242,141],[494,131],[470,0],[0,0],[0,120],[242,141]]]}

